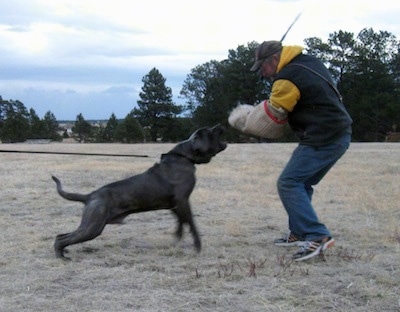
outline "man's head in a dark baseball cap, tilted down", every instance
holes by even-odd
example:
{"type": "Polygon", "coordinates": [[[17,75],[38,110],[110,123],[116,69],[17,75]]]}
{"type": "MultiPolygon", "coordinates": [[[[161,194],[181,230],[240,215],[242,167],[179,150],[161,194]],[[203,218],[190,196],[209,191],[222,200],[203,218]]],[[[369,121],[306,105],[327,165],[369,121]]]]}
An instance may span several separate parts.
{"type": "Polygon", "coordinates": [[[280,41],[264,41],[255,51],[256,61],[250,70],[260,71],[265,78],[275,76],[281,51],[282,43],[280,41]]]}

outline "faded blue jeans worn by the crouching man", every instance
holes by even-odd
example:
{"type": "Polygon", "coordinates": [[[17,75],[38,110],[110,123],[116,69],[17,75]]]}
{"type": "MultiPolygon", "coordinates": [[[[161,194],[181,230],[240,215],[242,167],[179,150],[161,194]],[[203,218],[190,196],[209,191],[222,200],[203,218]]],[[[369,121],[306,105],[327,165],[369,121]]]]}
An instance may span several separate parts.
{"type": "Polygon", "coordinates": [[[299,145],[278,179],[278,193],[289,216],[289,230],[300,240],[317,241],[331,236],[311,204],[313,185],[327,174],[350,145],[351,136],[313,147],[299,145]]]}

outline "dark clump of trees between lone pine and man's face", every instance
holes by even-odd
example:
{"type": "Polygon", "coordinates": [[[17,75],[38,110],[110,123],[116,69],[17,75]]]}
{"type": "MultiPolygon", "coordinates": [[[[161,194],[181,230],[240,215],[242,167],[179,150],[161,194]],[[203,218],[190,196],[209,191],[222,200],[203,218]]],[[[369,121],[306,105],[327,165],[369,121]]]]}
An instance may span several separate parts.
{"type": "MultiPolygon", "coordinates": [[[[268,98],[269,84],[250,72],[254,51],[258,45],[229,50],[223,61],[210,61],[191,70],[180,95],[187,100],[188,109],[197,127],[221,123],[227,126],[229,112],[238,103],[255,104],[268,98]]],[[[227,127],[231,140],[237,131],[227,127]]]]}

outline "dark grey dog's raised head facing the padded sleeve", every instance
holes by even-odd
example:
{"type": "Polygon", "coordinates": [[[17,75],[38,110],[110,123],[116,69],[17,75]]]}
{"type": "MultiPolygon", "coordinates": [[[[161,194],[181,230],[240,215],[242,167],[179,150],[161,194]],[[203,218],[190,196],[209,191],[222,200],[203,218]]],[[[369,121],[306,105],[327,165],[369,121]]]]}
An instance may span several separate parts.
{"type": "Polygon", "coordinates": [[[196,130],[186,141],[178,144],[173,152],[190,159],[195,164],[205,164],[211,158],[226,149],[226,142],[221,141],[224,127],[216,125],[196,130]]]}

